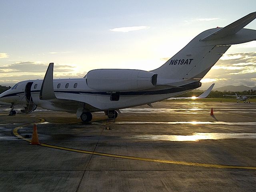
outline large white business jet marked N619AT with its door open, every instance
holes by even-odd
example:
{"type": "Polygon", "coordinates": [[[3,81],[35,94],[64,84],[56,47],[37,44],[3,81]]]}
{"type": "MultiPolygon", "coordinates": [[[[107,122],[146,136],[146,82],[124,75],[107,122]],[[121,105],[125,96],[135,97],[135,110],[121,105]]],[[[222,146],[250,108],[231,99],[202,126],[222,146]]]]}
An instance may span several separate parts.
{"type": "Polygon", "coordinates": [[[250,13],[224,28],[206,30],[191,40],[165,64],[152,71],[96,69],[84,78],[54,79],[50,63],[44,80],[27,80],[0,94],[0,101],[26,103],[23,113],[36,106],[75,113],[84,122],[92,112],[104,111],[116,118],[123,108],[140,106],[178,96],[201,86],[200,80],[230,48],[256,40],[256,30],[244,26],[256,18],[250,13]]]}

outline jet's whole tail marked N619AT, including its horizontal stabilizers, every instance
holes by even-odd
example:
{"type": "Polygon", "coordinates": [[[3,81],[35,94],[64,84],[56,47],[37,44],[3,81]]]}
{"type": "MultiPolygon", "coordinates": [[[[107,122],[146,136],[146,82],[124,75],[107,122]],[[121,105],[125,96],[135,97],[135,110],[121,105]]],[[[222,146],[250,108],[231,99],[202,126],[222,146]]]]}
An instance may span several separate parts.
{"type": "Polygon", "coordinates": [[[225,28],[214,28],[202,32],[164,65],[151,72],[158,74],[158,82],[200,80],[232,44],[256,40],[256,30],[243,29],[255,18],[256,12],[248,14],[225,28]]]}

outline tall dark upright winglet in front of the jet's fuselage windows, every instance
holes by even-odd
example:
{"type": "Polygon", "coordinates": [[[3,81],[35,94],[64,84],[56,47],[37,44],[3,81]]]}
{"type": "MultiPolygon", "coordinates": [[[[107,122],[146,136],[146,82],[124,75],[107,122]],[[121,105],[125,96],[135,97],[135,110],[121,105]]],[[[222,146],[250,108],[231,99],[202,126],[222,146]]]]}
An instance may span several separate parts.
{"type": "Polygon", "coordinates": [[[41,86],[40,100],[48,100],[48,99],[55,99],[56,96],[54,94],[53,89],[53,63],[50,63],[46,74],[44,76],[44,80],[41,86]]]}

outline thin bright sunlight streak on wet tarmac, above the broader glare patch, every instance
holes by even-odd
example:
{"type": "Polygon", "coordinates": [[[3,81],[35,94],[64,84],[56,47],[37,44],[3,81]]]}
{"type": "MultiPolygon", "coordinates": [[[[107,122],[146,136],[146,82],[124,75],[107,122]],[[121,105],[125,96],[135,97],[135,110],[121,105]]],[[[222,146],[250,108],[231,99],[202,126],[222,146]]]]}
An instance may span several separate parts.
{"type": "Polygon", "coordinates": [[[147,121],[120,121],[115,124],[223,124],[223,125],[256,125],[256,122],[223,122],[223,121],[179,121],[179,122],[147,122],[147,121]]]}

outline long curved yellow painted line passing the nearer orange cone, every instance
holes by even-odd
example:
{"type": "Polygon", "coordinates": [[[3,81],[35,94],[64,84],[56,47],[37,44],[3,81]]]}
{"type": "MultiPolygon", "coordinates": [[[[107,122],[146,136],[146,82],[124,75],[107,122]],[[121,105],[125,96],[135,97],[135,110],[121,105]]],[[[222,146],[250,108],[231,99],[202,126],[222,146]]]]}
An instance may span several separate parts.
{"type": "MultiPolygon", "coordinates": [[[[33,117],[33,118],[37,118],[40,120],[39,122],[37,122],[35,124],[44,122],[43,118],[38,118],[38,117],[33,117]]],[[[34,124],[34,123],[32,123],[32,124],[34,124]]],[[[26,139],[26,138],[22,137],[20,134],[18,134],[18,130],[24,126],[29,126],[32,124],[26,124],[26,125],[18,126],[16,128],[14,128],[14,130],[13,130],[14,135],[22,140],[31,142],[30,139],[26,139]]],[[[44,147],[49,147],[49,148],[54,148],[54,149],[59,149],[59,150],[65,150],[65,151],[70,151],[70,152],[78,152],[78,153],[84,153],[84,154],[92,154],[92,155],[98,155],[98,156],[114,157],[114,158],[130,159],[130,160],[140,160],[140,161],[147,161],[147,162],[160,162],[160,163],[168,163],[168,164],[176,164],[176,165],[200,166],[200,167],[210,167],[210,168],[256,170],[256,167],[249,167],[249,166],[216,165],[216,164],[203,164],[203,163],[193,163],[193,162],[184,162],[184,161],[140,158],[140,157],[133,157],[133,156],[125,156],[125,155],[116,155],[116,154],[107,154],[107,153],[79,150],[79,149],[73,149],[73,148],[67,148],[67,147],[61,147],[61,146],[54,146],[54,145],[45,144],[45,143],[39,144],[39,146],[44,146],[44,147]]]]}

